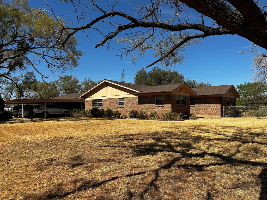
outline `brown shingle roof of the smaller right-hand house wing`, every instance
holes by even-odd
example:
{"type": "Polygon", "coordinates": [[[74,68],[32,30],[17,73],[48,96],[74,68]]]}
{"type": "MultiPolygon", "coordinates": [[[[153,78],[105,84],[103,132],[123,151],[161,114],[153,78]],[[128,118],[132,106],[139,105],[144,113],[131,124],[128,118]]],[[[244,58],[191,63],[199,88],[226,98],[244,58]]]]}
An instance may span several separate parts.
{"type": "Polygon", "coordinates": [[[233,85],[192,87],[192,90],[194,90],[197,93],[197,96],[199,96],[199,95],[219,95],[219,94],[225,94],[232,86],[233,85]]]}

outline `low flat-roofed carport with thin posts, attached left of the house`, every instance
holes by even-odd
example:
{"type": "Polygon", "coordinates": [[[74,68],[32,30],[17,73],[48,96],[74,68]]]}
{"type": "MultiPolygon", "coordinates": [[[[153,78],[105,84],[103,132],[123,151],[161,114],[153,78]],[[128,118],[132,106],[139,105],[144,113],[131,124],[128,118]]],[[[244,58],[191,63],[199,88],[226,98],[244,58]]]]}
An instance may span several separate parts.
{"type": "MultiPolygon", "coordinates": [[[[12,109],[11,112],[13,112],[13,104],[21,104],[22,105],[22,119],[23,119],[23,105],[25,104],[45,104],[45,112],[46,112],[46,104],[47,103],[55,103],[55,104],[63,104],[64,103],[64,109],[66,109],[66,103],[76,103],[76,105],[80,105],[80,109],[84,109],[84,98],[72,98],[72,99],[10,99],[5,100],[5,104],[11,104],[12,109]]],[[[45,116],[46,117],[46,116],[45,116]]],[[[66,113],[65,116],[66,117],[66,113]]]]}

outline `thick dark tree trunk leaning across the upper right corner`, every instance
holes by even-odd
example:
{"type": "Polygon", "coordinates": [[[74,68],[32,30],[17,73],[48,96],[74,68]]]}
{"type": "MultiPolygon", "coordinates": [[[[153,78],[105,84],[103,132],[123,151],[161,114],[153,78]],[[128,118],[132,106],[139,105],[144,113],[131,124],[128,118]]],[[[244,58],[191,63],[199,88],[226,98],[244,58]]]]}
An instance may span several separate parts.
{"type": "Polygon", "coordinates": [[[214,19],[229,31],[267,49],[267,14],[262,12],[254,1],[229,1],[236,9],[223,1],[182,0],[181,2],[214,19]]]}

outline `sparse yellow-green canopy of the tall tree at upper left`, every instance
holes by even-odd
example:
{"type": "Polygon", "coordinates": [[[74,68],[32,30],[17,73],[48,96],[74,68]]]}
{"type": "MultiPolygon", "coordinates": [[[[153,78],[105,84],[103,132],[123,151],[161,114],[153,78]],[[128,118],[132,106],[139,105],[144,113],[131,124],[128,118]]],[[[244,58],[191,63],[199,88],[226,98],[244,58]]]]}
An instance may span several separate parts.
{"type": "MultiPolygon", "coordinates": [[[[76,50],[77,41],[68,31],[57,32],[65,21],[44,9],[33,9],[28,1],[1,0],[0,12],[0,77],[20,87],[12,75],[17,71],[26,75],[32,68],[41,74],[37,65],[46,63],[52,72],[65,72],[78,65],[82,55],[76,50]],[[52,15],[52,16],[51,16],[52,15]],[[62,40],[68,41],[62,45],[62,40]]],[[[42,78],[49,78],[46,75],[42,78]]],[[[22,96],[19,89],[19,96],[22,96]]]]}

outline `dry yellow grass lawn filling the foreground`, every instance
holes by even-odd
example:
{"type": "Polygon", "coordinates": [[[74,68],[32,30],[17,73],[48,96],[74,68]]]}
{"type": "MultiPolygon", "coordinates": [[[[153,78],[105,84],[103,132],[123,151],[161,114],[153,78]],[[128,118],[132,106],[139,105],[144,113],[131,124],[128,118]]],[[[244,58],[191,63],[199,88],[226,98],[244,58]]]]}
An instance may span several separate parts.
{"type": "Polygon", "coordinates": [[[1,123],[1,199],[266,199],[267,120],[1,123]]]}

